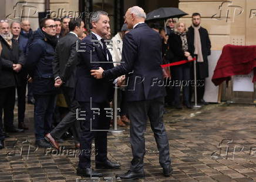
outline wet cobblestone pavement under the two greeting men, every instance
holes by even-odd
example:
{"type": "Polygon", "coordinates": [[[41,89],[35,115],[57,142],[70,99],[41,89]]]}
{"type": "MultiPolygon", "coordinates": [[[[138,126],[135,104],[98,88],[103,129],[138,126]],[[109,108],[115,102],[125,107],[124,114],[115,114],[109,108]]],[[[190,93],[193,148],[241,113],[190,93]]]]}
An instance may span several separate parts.
{"type": "MultiPolygon", "coordinates": [[[[62,143],[61,151],[36,149],[33,106],[27,106],[26,122],[29,123],[29,130],[10,134],[5,140],[5,149],[0,150],[1,182],[110,182],[117,181],[115,174],[129,169],[132,159],[129,127],[122,134],[108,136],[109,159],[122,164],[122,168],[99,170],[105,177],[109,177],[105,179],[81,178],[76,176],[79,153],[73,147],[73,140],[62,143]]],[[[145,133],[147,152],[144,158],[146,178],[137,181],[256,181],[255,109],[255,106],[250,105],[225,104],[212,104],[196,110],[167,108],[169,113],[164,115],[164,122],[169,136],[173,175],[169,178],[162,176],[156,143],[148,125],[145,133]]]]}

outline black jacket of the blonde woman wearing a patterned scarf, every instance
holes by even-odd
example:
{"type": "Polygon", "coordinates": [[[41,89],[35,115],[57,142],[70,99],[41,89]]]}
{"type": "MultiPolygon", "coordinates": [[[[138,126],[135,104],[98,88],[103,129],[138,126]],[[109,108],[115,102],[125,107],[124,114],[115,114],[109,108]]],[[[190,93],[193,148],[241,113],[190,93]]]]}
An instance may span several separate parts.
{"type": "MultiPolygon", "coordinates": [[[[187,43],[190,44],[190,39],[187,36],[187,43]]],[[[187,57],[184,56],[184,50],[182,49],[182,41],[180,35],[176,33],[171,33],[169,35],[169,51],[173,53],[173,59],[171,62],[178,62],[180,60],[187,60],[187,57]]],[[[187,52],[191,50],[188,48],[187,52]]],[[[192,53],[190,52],[192,55],[192,53]]],[[[186,63],[185,65],[190,66],[191,63],[186,63]]]]}

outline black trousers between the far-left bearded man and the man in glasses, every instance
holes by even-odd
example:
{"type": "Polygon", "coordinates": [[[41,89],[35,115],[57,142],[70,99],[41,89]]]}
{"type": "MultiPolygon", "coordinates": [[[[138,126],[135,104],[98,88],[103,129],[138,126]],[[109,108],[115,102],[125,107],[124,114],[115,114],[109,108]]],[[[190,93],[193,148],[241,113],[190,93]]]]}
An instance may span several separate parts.
{"type": "Polygon", "coordinates": [[[23,80],[20,86],[17,87],[18,93],[18,122],[23,123],[26,110],[26,80],[23,80]]]}

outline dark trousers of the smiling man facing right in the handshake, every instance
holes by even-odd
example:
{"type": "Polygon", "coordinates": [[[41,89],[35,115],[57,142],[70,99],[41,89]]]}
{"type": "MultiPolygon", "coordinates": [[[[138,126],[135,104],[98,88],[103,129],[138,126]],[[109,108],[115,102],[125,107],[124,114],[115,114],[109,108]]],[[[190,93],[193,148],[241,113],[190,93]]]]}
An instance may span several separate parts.
{"type": "MultiPolygon", "coordinates": [[[[106,110],[109,103],[79,102],[85,120],[80,120],[80,168],[90,167],[90,157],[95,154],[95,160],[104,161],[107,159],[107,131],[110,126],[110,117],[106,117],[106,110]],[[96,110],[97,109],[97,110],[96,110]],[[98,131],[93,131],[98,130],[98,131]],[[105,131],[100,131],[105,130],[105,131]],[[92,151],[92,140],[95,139],[95,151],[92,151]]],[[[108,114],[109,116],[109,114],[108,114]]]]}

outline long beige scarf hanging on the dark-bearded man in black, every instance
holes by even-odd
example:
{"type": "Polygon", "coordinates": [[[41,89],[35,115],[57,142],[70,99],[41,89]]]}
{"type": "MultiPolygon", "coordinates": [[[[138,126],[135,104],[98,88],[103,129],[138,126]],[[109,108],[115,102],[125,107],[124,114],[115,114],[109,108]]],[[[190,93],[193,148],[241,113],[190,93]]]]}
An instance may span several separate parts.
{"type": "Polygon", "coordinates": [[[197,55],[197,62],[204,62],[202,46],[201,46],[201,38],[199,33],[199,29],[201,28],[201,26],[200,25],[194,26],[193,24],[191,26],[194,28],[194,47],[195,47],[194,54],[197,55]]]}

